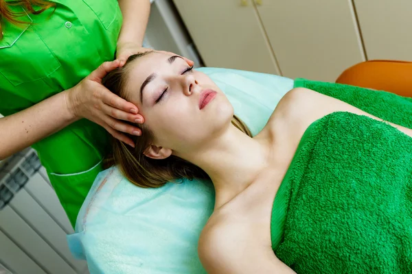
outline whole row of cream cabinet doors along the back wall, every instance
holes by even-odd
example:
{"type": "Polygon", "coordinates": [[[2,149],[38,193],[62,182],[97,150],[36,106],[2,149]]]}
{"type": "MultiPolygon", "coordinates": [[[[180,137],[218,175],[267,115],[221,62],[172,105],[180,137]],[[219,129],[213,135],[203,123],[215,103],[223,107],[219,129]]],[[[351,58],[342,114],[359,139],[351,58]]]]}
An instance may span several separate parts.
{"type": "Polygon", "coordinates": [[[334,82],[367,57],[412,59],[407,0],[174,3],[207,66],[334,82]]]}

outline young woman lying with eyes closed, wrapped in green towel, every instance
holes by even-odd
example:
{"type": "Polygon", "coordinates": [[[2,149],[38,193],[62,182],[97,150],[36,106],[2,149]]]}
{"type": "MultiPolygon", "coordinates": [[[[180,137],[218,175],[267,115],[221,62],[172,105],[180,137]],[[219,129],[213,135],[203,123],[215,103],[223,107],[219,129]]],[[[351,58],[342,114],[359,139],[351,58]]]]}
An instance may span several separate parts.
{"type": "Polygon", "coordinates": [[[198,242],[208,273],[412,269],[411,129],[295,88],[252,137],[209,77],[166,53],[131,56],[104,85],[145,119],[135,148],[113,143],[131,182],[213,182],[198,242]]]}

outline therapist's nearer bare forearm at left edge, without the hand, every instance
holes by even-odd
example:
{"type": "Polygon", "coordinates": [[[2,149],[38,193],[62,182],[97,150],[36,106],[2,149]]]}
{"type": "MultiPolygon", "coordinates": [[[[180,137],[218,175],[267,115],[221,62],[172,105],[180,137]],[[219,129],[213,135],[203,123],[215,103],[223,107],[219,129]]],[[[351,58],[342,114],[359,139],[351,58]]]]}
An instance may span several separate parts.
{"type": "Polygon", "coordinates": [[[0,119],[0,160],[30,147],[78,120],[67,107],[65,92],[0,119]]]}

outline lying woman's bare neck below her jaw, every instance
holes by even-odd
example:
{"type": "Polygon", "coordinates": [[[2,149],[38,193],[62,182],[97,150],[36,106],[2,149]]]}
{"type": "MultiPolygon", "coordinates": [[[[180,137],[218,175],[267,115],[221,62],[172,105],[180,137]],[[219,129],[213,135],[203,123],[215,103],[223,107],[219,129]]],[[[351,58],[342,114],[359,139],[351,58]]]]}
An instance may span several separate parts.
{"type": "Polygon", "coordinates": [[[215,208],[236,197],[267,166],[267,149],[235,126],[211,139],[196,153],[179,155],[201,167],[216,190],[215,208]]]}

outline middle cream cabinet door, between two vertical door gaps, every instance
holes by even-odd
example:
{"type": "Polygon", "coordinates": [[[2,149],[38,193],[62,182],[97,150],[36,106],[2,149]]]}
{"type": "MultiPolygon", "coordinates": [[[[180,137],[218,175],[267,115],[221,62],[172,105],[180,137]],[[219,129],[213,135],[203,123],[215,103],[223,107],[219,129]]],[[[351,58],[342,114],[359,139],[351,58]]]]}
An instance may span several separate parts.
{"type": "Polygon", "coordinates": [[[351,0],[260,2],[258,12],[283,76],[334,82],[365,60],[351,0]]]}

